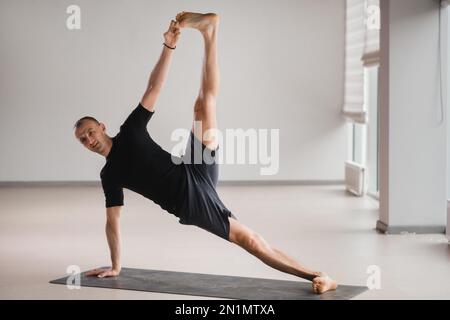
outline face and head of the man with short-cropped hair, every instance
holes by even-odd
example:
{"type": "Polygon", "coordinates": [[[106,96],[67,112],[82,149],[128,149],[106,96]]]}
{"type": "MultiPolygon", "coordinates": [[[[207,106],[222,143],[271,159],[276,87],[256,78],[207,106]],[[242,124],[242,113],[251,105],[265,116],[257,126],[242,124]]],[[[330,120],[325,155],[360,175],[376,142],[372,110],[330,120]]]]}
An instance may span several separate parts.
{"type": "Polygon", "coordinates": [[[84,120],[75,130],[75,137],[92,152],[102,154],[106,146],[105,125],[97,124],[92,120],[84,120]]]}

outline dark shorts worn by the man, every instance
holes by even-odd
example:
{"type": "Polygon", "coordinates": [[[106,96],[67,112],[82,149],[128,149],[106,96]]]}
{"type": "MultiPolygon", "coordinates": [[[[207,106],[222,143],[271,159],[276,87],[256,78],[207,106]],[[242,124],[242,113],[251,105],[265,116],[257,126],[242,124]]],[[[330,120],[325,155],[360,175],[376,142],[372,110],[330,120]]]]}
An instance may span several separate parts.
{"type": "Polygon", "coordinates": [[[195,225],[229,241],[228,210],[216,192],[219,165],[215,150],[207,148],[192,132],[183,155],[186,168],[187,195],[180,212],[180,223],[195,225]]]}

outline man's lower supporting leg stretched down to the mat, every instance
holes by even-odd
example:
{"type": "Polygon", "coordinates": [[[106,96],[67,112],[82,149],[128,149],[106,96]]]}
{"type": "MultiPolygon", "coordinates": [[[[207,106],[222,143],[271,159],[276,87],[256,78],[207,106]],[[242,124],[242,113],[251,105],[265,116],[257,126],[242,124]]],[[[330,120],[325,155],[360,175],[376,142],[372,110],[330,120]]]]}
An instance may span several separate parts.
{"type": "Polygon", "coordinates": [[[268,266],[313,281],[313,290],[317,293],[336,289],[336,282],[325,274],[307,269],[282,251],[271,247],[259,234],[239,221],[233,218],[228,220],[230,221],[230,241],[247,250],[268,266]]]}

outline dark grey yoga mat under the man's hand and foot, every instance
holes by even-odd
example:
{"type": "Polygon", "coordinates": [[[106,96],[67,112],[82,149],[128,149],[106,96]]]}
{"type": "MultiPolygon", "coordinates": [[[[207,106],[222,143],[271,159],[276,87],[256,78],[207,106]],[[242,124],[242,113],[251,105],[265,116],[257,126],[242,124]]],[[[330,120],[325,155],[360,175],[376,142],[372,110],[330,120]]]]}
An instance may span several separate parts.
{"type": "MultiPolygon", "coordinates": [[[[122,268],[118,277],[87,277],[81,273],[80,285],[173,293],[242,300],[346,300],[367,287],[340,285],[337,290],[314,294],[310,282],[232,277],[213,274],[122,268]]],[[[50,281],[66,284],[68,277],[50,281]]],[[[70,284],[74,284],[73,281],[70,284]]]]}

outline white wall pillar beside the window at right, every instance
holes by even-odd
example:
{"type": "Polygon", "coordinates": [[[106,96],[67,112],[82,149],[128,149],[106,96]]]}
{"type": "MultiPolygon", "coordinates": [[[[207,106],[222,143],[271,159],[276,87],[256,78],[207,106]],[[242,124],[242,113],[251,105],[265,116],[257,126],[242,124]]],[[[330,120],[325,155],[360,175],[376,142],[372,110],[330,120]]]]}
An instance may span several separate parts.
{"type": "Polygon", "coordinates": [[[438,8],[434,0],[382,2],[380,220],[388,230],[441,232],[446,221],[438,8]]]}

